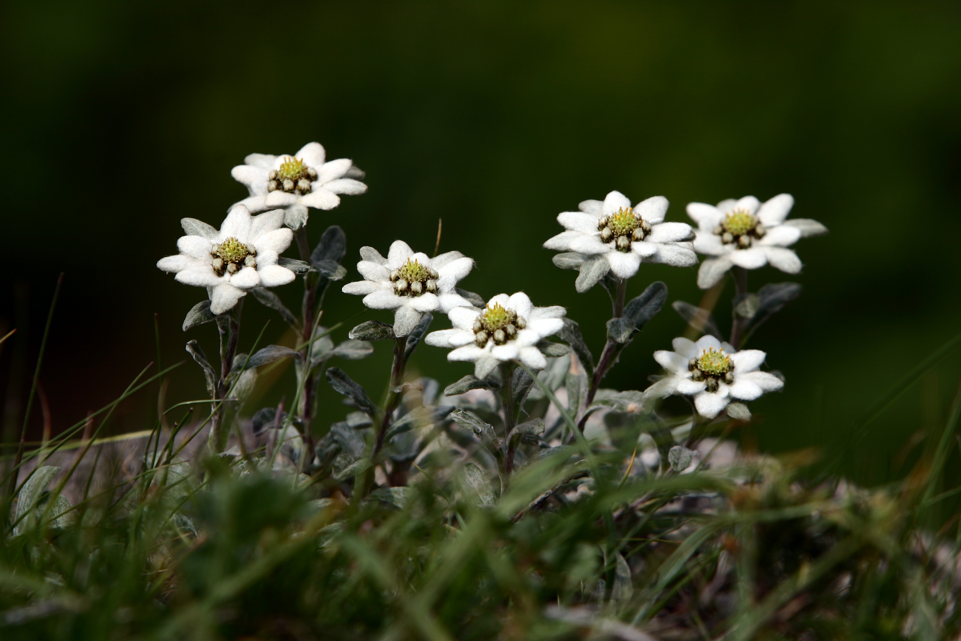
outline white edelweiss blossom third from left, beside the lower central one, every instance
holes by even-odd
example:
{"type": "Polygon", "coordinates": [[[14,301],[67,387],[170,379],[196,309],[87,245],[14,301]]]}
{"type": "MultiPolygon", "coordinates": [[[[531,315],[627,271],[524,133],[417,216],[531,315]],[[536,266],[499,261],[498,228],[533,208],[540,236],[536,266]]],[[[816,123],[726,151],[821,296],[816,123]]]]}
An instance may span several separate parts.
{"type": "Polygon", "coordinates": [[[474,259],[460,252],[447,252],[432,259],[415,253],[403,240],[390,245],[387,258],[373,247],[360,248],[357,271],[365,280],[348,283],[345,294],[359,294],[363,304],[374,309],[394,309],[394,334],[406,336],[416,327],[424,311],[470,306],[456,292],[457,281],[474,267],[474,259]]]}

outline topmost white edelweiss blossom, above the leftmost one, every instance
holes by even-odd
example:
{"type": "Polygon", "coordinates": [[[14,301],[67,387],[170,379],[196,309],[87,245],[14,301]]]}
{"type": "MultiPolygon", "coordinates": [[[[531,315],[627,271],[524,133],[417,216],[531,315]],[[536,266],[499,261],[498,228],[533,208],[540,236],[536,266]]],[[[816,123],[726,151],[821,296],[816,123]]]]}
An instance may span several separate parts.
{"type": "Polygon", "coordinates": [[[283,208],[284,224],[298,229],[307,222],[308,207],[333,210],[340,204],[337,194],[358,194],[367,190],[358,180],[363,172],[350,159],[324,161],[324,147],[310,142],[293,156],[251,154],[231,170],[237,182],[247,185],[250,197],[245,205],[255,213],[283,208]]]}

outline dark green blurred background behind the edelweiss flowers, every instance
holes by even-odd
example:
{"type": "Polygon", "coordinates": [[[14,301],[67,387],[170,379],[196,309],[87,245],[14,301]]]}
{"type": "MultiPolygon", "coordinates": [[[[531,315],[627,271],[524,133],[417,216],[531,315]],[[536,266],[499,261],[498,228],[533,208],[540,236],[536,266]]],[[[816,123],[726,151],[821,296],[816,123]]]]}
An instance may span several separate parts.
{"type": "MultiPolygon", "coordinates": [[[[619,189],[635,201],[663,194],[668,219],[688,221],[690,201],[794,194],[792,215],[831,233],[797,245],[804,294],[752,339],[787,377],[742,434],[762,450],[832,443],[961,329],[957,3],[37,1],[4,13],[0,318],[20,332],[0,354],[0,382],[14,425],[60,271],[41,373],[55,431],[155,358],[154,312],[164,364],[185,358],[191,337],[212,356],[212,326],[180,329],[203,290],[154,265],[175,253],[181,217],[219,226],[245,195],[230,169],[246,154],[310,140],[367,172],[367,194],[308,226],[312,239],[344,228],[349,280],[360,245],[385,253],[400,237],[430,252],[442,217],[442,251],[477,259],[465,288],[567,306],[595,350],[604,291],[577,294],[576,274],[541,248],[559,211],[619,189]],[[21,320],[17,296],[29,300],[21,320]]],[[[695,274],[644,266],[628,293],[663,280],[669,300],[697,303],[695,274]]],[[[765,268],[751,284],[790,278],[765,268]]],[[[298,284],[279,293],[297,306],[298,284]]],[[[360,309],[339,291],[328,300],[329,323],[360,309]]],[[[244,313],[249,348],[272,316],[254,300],[244,313]]],[[[354,322],[369,317],[387,319],[354,322]]],[[[652,352],[681,331],[666,308],[609,382],[643,389],[652,352]]],[[[267,340],[282,336],[275,319],[267,340]]],[[[337,364],[379,394],[387,359],[379,345],[373,359],[337,364]]],[[[469,371],[435,348],[415,360],[442,383],[469,371]]],[[[903,473],[911,435],[944,425],[956,361],[875,422],[850,474],[903,473]]],[[[261,391],[262,404],[292,394],[261,391]]],[[[168,402],[202,396],[187,363],[168,402]]],[[[155,398],[126,404],[111,430],[149,428],[155,398]]],[[[326,424],[345,408],[329,389],[324,399],[326,424]]]]}

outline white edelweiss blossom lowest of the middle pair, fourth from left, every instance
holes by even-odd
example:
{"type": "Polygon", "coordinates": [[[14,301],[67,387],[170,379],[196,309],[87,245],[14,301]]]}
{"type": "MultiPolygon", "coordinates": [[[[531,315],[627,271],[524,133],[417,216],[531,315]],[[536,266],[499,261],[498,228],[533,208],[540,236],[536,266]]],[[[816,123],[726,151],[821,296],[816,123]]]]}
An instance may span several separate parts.
{"type": "Polygon", "coordinates": [[[498,294],[487,307],[453,308],[447,312],[452,330],[431,332],[424,339],[434,347],[453,348],[448,360],[475,363],[474,375],[482,379],[499,363],[520,360],[531,369],[543,369],[547,359],[537,344],[564,327],[565,308],[535,308],[524,292],[498,294]]]}

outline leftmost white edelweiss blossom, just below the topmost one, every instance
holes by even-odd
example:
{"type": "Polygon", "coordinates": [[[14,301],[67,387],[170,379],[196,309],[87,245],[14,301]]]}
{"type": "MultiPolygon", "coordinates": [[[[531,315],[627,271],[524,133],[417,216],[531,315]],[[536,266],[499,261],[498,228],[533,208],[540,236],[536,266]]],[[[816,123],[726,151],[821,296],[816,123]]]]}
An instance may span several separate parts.
{"type": "Polygon", "coordinates": [[[157,266],[176,272],[183,284],[207,287],[210,311],[234,308],[252,287],[275,287],[296,275],[278,264],[293,232],[283,227],[283,210],[251,216],[243,205],[227,214],[220,231],[193,218],[181,221],[188,234],[177,241],[180,254],[160,259],[157,266]]]}

